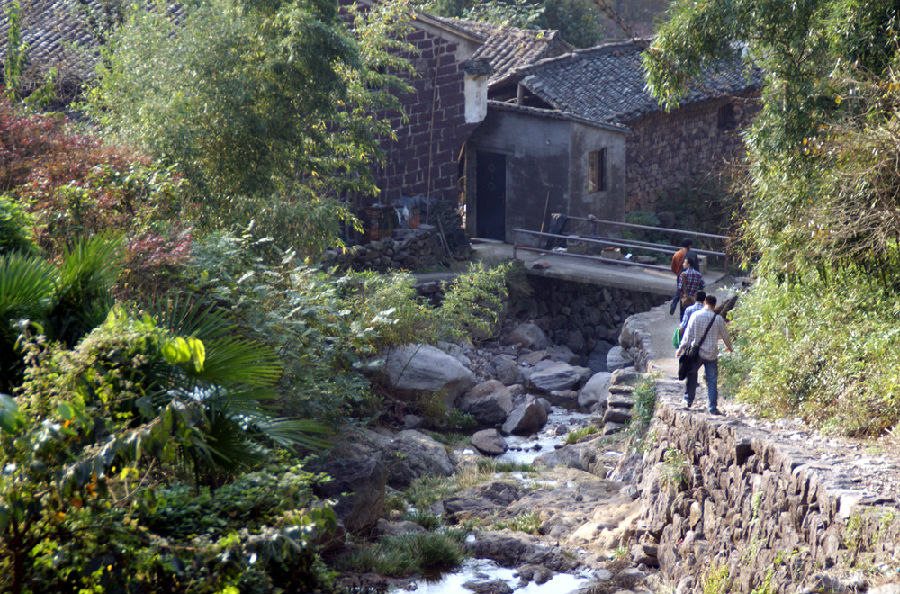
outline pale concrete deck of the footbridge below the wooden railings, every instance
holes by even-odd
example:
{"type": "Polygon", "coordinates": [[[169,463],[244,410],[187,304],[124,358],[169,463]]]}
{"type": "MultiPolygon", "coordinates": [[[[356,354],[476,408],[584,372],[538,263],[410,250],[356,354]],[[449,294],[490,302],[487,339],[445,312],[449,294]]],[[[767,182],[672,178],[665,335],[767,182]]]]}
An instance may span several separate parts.
{"type": "MultiPolygon", "coordinates": [[[[513,257],[513,246],[508,243],[478,240],[473,242],[472,247],[476,257],[484,261],[511,260],[513,257]]],[[[524,250],[519,250],[518,259],[529,274],[656,295],[675,294],[675,277],[669,270],[604,264],[572,256],[524,250]]],[[[722,276],[722,271],[709,270],[703,278],[707,285],[711,285],[722,276]]]]}

